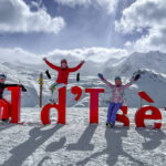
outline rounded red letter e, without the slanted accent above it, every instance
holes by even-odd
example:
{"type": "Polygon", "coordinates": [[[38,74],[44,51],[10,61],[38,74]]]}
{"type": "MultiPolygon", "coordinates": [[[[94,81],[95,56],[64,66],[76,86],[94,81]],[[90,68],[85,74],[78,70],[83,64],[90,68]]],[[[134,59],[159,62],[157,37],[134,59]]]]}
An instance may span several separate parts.
{"type": "MultiPolygon", "coordinates": [[[[155,106],[141,107],[135,114],[135,123],[137,127],[145,127],[144,120],[162,120],[159,110],[155,106]],[[147,111],[152,111],[151,115],[146,115],[147,111]]],[[[155,123],[154,128],[160,128],[162,123],[155,123]]]]}

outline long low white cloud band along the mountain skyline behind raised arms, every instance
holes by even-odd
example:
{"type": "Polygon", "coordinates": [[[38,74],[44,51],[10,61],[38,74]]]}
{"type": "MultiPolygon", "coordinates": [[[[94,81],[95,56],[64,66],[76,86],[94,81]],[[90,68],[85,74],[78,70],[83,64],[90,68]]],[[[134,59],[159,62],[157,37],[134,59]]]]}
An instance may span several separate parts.
{"type": "Polygon", "coordinates": [[[37,55],[21,48],[0,49],[0,62],[11,62],[14,64],[20,62],[27,64],[41,64],[43,63],[43,58],[48,58],[56,64],[59,64],[62,59],[66,59],[69,63],[77,63],[81,60],[104,63],[111,58],[121,59],[126,55],[128,55],[126,50],[104,48],[53,50],[45,55],[37,55]]]}

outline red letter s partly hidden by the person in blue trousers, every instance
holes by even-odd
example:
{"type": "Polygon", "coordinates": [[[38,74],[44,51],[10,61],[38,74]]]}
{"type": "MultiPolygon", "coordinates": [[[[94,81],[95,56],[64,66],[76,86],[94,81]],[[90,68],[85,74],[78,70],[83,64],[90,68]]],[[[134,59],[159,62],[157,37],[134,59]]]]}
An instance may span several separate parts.
{"type": "Polygon", "coordinates": [[[127,106],[121,106],[121,110],[123,114],[116,114],[116,121],[122,122],[124,126],[129,126],[129,118],[126,116],[127,115],[127,106]]]}

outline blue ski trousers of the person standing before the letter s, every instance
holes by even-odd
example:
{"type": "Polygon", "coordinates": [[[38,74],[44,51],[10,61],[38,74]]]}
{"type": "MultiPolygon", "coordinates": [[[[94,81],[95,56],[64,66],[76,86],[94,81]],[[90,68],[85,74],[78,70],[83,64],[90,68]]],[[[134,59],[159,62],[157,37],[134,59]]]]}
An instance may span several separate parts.
{"type": "Polygon", "coordinates": [[[107,110],[107,123],[115,124],[116,121],[116,113],[118,108],[122,106],[123,103],[110,103],[108,110],[107,110]]]}

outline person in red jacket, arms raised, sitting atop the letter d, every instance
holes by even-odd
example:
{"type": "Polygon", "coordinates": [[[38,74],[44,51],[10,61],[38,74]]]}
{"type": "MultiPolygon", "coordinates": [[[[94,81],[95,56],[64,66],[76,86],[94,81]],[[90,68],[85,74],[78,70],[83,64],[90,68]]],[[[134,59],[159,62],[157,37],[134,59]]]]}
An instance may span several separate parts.
{"type": "Polygon", "coordinates": [[[58,71],[58,80],[55,83],[53,83],[50,86],[51,93],[52,93],[52,97],[51,97],[51,103],[55,103],[58,101],[58,90],[68,85],[68,80],[69,80],[69,74],[71,72],[76,72],[77,70],[80,70],[82,68],[82,65],[85,63],[85,61],[81,61],[81,63],[75,66],[75,68],[69,68],[68,66],[68,61],[65,59],[61,60],[61,66],[54,65],[52,63],[50,63],[46,58],[43,59],[43,61],[53,70],[58,71]]]}

